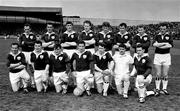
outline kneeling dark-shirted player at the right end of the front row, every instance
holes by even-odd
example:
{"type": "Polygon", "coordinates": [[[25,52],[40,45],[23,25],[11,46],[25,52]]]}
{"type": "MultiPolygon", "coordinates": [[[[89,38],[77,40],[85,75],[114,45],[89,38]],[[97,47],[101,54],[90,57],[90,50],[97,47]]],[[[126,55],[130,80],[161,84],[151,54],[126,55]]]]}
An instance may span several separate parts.
{"type": "Polygon", "coordinates": [[[134,68],[131,76],[136,75],[136,87],[139,95],[139,102],[144,103],[145,97],[154,94],[153,91],[147,91],[146,87],[152,81],[152,62],[151,59],[144,54],[145,49],[141,44],[136,47],[137,55],[134,57],[134,68]]]}

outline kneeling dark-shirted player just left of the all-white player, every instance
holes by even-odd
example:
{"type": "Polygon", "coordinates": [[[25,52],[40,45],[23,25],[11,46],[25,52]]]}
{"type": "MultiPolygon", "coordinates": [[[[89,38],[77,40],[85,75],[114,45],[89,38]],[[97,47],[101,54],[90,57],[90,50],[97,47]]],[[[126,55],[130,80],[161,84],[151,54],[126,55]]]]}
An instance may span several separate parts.
{"type": "Polygon", "coordinates": [[[93,56],[95,68],[94,77],[97,91],[100,94],[103,92],[103,96],[107,96],[110,75],[114,65],[113,59],[110,53],[105,51],[104,43],[98,44],[98,51],[93,56]]]}

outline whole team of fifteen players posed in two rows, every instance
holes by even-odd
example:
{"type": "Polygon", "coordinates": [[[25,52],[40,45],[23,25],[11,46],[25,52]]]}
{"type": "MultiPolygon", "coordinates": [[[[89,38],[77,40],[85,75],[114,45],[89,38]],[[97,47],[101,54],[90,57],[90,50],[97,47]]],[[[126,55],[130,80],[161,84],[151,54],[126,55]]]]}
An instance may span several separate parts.
{"type": "Polygon", "coordinates": [[[24,33],[11,44],[7,56],[13,92],[23,89],[24,93],[31,93],[29,89],[34,88],[38,93],[48,93],[53,86],[57,93],[66,94],[72,88],[68,87],[69,82],[73,81],[75,96],[91,96],[93,88],[106,97],[114,84],[118,95],[128,99],[130,79],[135,78],[131,82],[140,103],[149,95],[169,95],[173,38],[166,24],[160,24],[155,37],[146,34],[143,26],[132,35],[126,23],[119,24],[117,33],[111,30],[109,22],[103,22],[99,32],[93,30],[88,20],[83,22],[84,30],[80,33],[73,30],[70,21],[65,28],[65,32],[58,34],[53,24],[47,23],[47,32],[37,37],[30,24],[24,25],[24,33]],[[153,59],[148,54],[151,46],[155,48],[153,59]],[[154,89],[147,91],[153,77],[154,89]]]}

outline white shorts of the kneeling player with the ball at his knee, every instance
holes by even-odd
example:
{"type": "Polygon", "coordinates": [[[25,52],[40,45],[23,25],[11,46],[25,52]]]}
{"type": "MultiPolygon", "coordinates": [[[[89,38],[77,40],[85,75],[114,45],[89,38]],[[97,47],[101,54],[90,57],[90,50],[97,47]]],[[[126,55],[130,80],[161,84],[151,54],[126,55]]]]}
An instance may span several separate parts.
{"type": "Polygon", "coordinates": [[[76,72],[76,82],[77,84],[82,84],[82,83],[93,83],[94,82],[94,77],[92,74],[90,74],[90,70],[87,71],[81,71],[81,72],[76,72]]]}

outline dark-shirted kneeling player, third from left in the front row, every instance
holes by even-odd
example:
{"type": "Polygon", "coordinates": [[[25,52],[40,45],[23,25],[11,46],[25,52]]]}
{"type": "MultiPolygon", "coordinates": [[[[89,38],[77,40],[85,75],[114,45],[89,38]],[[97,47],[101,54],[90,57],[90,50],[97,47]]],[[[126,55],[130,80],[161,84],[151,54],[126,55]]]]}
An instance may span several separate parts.
{"type": "Polygon", "coordinates": [[[68,73],[70,71],[69,57],[65,52],[62,52],[60,44],[54,47],[54,53],[50,55],[50,63],[53,69],[53,79],[56,92],[62,90],[62,94],[67,92],[68,73]]]}

